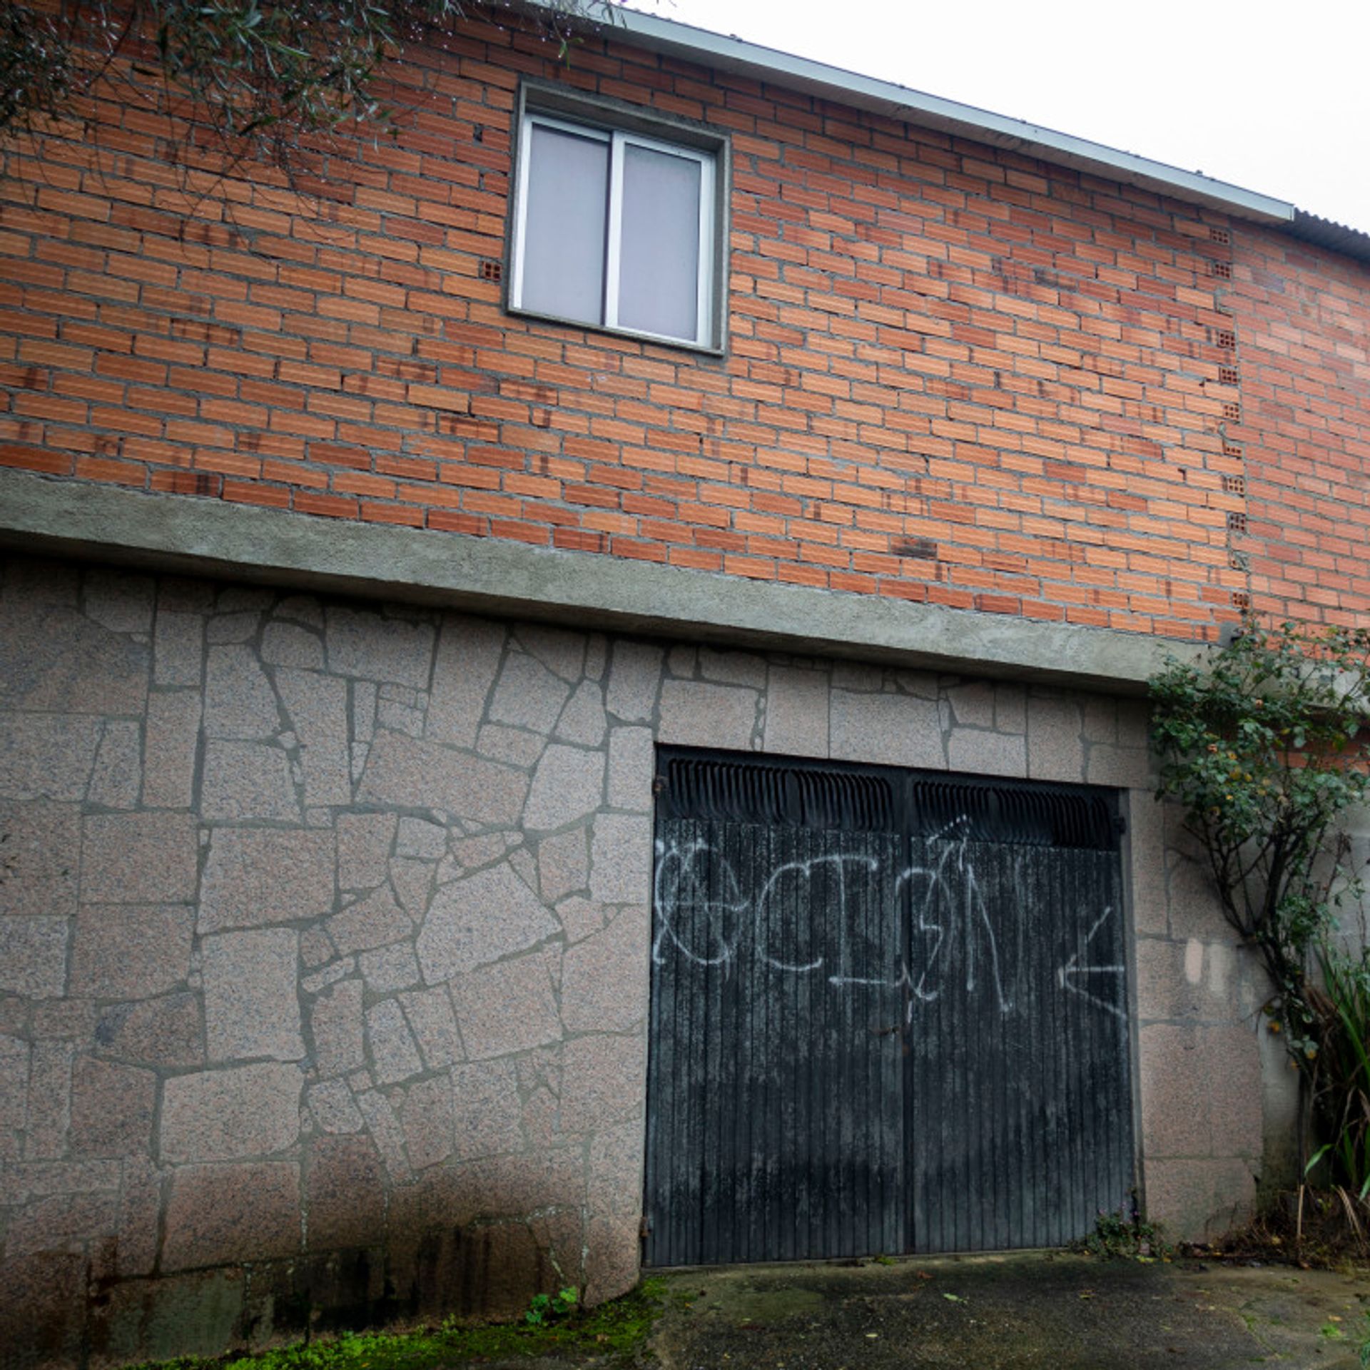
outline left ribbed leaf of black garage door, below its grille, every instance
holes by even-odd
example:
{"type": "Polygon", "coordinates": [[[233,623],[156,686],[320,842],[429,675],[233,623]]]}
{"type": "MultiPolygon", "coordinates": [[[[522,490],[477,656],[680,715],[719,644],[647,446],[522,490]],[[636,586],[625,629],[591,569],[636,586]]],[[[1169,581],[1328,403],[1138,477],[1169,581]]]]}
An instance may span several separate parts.
{"type": "Polygon", "coordinates": [[[652,945],[656,1265],[899,1251],[895,834],[670,821],[652,945]]]}

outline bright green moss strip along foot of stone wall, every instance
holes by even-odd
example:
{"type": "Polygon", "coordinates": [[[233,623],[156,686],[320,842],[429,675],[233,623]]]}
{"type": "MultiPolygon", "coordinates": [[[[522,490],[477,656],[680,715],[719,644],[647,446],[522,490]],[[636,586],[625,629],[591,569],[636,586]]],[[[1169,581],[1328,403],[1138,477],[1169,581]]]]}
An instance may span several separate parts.
{"type": "Polygon", "coordinates": [[[552,1356],[563,1362],[634,1366],[663,1308],[666,1286],[645,1280],[622,1299],[543,1325],[459,1323],[416,1332],[349,1332],[248,1356],[182,1358],[133,1370],[436,1370],[438,1366],[552,1356]]]}

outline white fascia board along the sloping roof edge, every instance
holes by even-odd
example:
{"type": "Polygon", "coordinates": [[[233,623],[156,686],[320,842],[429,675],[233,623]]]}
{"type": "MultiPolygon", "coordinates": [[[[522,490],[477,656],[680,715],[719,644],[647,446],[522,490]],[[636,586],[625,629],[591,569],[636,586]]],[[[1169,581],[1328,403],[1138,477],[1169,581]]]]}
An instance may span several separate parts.
{"type": "Polygon", "coordinates": [[[1101,142],[1091,142],[1088,138],[1056,133],[1054,129],[1044,129],[1025,119],[1010,119],[956,100],[943,100],[893,81],[877,81],[825,62],[796,58],[727,34],[696,29],[675,19],[662,19],[658,15],[618,5],[610,12],[611,19],[604,21],[601,26],[607,36],[612,36],[616,29],[644,48],[697,66],[770,81],[858,110],[870,110],[891,119],[973,138],[977,142],[1074,167],[1110,181],[1143,186],[1160,195],[1208,204],[1245,219],[1289,223],[1295,216],[1295,207],[1288,200],[1245,190],[1197,171],[1182,171],[1164,162],[1138,158],[1101,142]]]}

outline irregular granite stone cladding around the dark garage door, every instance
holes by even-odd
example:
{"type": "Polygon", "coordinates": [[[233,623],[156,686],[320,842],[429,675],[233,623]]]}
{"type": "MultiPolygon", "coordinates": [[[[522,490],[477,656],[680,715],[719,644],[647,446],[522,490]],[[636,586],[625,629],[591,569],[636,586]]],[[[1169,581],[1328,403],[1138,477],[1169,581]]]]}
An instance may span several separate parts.
{"type": "Polygon", "coordinates": [[[1151,799],[1144,722],[7,563],[0,1345],[112,1365],[630,1285],[658,740],[1128,790],[1147,1193],[1226,1225],[1262,1159],[1263,991],[1151,799]]]}

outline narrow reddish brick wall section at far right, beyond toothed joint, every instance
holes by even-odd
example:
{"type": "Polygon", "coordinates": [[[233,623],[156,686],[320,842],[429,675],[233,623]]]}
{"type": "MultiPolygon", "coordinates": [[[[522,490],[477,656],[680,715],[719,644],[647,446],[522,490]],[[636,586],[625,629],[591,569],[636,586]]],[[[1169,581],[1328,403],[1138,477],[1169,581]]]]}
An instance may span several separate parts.
{"type": "Polygon", "coordinates": [[[1349,258],[1244,227],[1233,274],[1252,607],[1370,621],[1370,292],[1349,258]]]}

